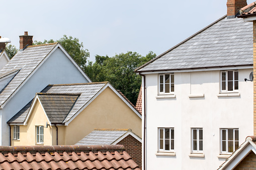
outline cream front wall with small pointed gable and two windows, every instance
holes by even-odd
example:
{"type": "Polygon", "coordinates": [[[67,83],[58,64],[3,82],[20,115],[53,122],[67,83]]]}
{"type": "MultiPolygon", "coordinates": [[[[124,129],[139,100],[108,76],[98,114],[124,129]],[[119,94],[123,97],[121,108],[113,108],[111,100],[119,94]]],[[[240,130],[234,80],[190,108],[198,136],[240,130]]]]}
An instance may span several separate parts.
{"type": "MultiPolygon", "coordinates": [[[[12,145],[38,145],[36,143],[36,126],[46,126],[47,117],[43,111],[41,104],[37,101],[26,126],[20,125],[21,136],[20,141],[12,140],[12,145]]],[[[48,121],[49,123],[49,121],[48,121]]],[[[12,128],[13,133],[13,128],[12,128]]],[[[44,128],[44,144],[52,145],[53,129],[51,126],[44,128]]],[[[56,134],[56,133],[55,133],[56,134]]],[[[12,134],[13,139],[13,134],[12,134]]],[[[39,144],[41,145],[41,144],[39,144]]]]}

